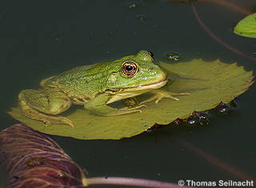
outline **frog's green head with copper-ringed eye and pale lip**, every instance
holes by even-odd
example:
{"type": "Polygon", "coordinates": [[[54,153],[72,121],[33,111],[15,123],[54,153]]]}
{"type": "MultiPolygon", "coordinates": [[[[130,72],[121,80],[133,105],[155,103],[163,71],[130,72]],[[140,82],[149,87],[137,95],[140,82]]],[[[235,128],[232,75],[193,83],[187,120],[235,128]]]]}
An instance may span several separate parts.
{"type": "Polygon", "coordinates": [[[166,72],[154,64],[153,53],[142,50],[134,56],[112,61],[107,88],[121,88],[122,92],[161,88],[166,84],[166,72]]]}

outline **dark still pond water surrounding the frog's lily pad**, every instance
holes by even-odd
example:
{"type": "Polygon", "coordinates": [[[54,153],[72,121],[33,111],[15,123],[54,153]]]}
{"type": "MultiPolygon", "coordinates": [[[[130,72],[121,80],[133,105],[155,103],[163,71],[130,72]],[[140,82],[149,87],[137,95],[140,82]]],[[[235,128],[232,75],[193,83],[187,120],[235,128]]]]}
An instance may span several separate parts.
{"type": "MultiPolygon", "coordinates": [[[[229,2],[255,12],[254,0],[229,2]]],[[[235,23],[245,15],[216,3],[194,2],[194,6],[222,41],[256,58],[256,39],[232,33],[235,23]]],[[[227,63],[238,61],[246,70],[256,69],[256,61],[231,52],[210,37],[198,25],[189,3],[3,0],[0,28],[1,130],[17,123],[6,111],[17,104],[22,89],[38,88],[40,80],[66,69],[114,60],[141,49],[154,52],[156,61],[165,60],[166,53],[176,52],[182,60],[219,58],[227,63]],[[132,3],[136,7],[129,8],[132,3]]],[[[54,139],[90,177],[123,176],[166,182],[240,180],[241,175],[228,172],[232,168],[255,177],[255,91],[254,84],[239,96],[238,108],[230,115],[214,116],[206,127],[164,127],[122,140],[54,139]],[[178,140],[186,141],[186,147],[178,140]],[[210,163],[188,143],[221,162],[210,163]],[[227,170],[223,170],[223,164],[227,170]]],[[[4,173],[1,183],[3,177],[4,173]]]]}

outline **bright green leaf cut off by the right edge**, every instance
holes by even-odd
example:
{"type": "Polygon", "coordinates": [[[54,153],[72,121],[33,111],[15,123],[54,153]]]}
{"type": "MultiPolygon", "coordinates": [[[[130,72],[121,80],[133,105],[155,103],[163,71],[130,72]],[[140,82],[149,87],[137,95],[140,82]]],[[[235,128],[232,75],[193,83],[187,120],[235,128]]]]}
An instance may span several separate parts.
{"type": "Polygon", "coordinates": [[[256,37],[256,13],[243,18],[234,27],[234,33],[243,37],[256,37]]]}

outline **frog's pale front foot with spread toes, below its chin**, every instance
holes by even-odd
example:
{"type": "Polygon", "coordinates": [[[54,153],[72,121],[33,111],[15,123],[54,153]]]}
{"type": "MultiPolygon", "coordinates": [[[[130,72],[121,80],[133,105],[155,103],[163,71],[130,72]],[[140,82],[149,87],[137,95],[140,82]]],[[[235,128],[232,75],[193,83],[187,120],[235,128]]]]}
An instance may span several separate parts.
{"type": "Polygon", "coordinates": [[[160,100],[165,99],[165,98],[172,99],[172,100],[178,100],[178,98],[176,98],[174,96],[188,96],[188,95],[190,95],[189,92],[166,92],[166,91],[162,91],[160,89],[153,90],[150,93],[152,93],[154,96],[151,96],[147,100],[143,100],[140,104],[145,104],[145,103],[148,103],[152,100],[155,100],[155,104],[158,104],[158,102],[160,100]]]}

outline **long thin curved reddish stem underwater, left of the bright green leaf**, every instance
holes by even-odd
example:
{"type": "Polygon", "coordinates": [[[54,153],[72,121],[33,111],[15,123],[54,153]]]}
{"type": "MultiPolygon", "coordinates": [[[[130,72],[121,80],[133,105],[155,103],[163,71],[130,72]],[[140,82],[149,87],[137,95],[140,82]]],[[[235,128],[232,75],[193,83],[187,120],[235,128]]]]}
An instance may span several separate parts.
{"type": "Polygon", "coordinates": [[[254,57],[250,57],[242,52],[240,52],[238,49],[234,49],[232,46],[226,44],[226,42],[222,41],[221,39],[219,39],[214,33],[212,33],[210,31],[210,29],[202,22],[201,18],[199,18],[198,16],[198,12],[197,10],[195,9],[195,6],[194,4],[191,2],[191,5],[192,5],[192,9],[193,9],[193,12],[194,12],[194,16],[196,18],[196,20],[198,21],[199,25],[202,26],[202,29],[204,29],[206,31],[206,33],[208,33],[210,35],[210,37],[213,37],[216,41],[218,41],[218,43],[224,45],[226,47],[226,49],[229,49],[230,51],[234,52],[234,53],[237,53],[238,55],[242,56],[242,57],[246,57],[247,59],[250,59],[252,61],[256,61],[256,58],[254,57]]]}

